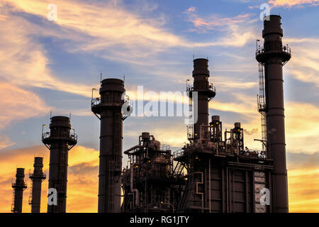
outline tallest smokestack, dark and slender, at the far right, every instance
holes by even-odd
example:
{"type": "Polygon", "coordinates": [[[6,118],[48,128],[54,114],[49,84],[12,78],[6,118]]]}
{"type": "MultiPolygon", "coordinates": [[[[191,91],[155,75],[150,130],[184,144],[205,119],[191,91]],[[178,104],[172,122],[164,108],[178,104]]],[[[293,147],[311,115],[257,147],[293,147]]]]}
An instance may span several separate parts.
{"type": "Polygon", "coordinates": [[[284,123],[284,80],[282,67],[291,58],[291,50],[282,45],[281,16],[264,20],[264,46],[258,48],[256,59],[264,65],[267,114],[267,155],[274,160],[272,195],[274,212],[288,212],[286,143],[284,123]]]}

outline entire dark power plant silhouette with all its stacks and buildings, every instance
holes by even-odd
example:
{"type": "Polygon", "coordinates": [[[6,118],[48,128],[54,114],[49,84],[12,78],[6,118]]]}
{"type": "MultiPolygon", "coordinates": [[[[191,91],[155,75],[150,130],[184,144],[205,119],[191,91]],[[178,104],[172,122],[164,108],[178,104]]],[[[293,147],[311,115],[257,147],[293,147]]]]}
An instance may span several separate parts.
{"type": "MultiPolygon", "coordinates": [[[[281,16],[271,15],[269,21],[264,20],[262,37],[264,45],[257,45],[255,52],[262,150],[245,147],[240,122],[223,131],[220,116],[209,118],[208,103],[217,92],[208,81],[208,59],[194,59],[194,82],[186,86],[193,112],[187,126],[189,142],[174,152],[149,132],[142,132],[137,145],[123,151],[123,121],[133,106],[123,97],[123,80],[101,80],[100,97],[92,95],[91,99],[91,111],[101,123],[99,213],[289,211],[282,67],[290,60],[291,50],[282,45],[281,16]],[[128,157],[124,168],[123,153],[128,157]]],[[[42,141],[50,150],[49,189],[55,189],[52,195],[57,200],[47,205],[47,212],[65,213],[69,151],[77,144],[70,118],[53,116],[50,132],[43,132],[42,141]]],[[[29,204],[33,213],[39,213],[41,184],[46,178],[43,157],[35,157],[33,166],[29,204]]],[[[23,190],[27,187],[23,168],[17,168],[12,187],[11,211],[21,213],[23,190]]]]}

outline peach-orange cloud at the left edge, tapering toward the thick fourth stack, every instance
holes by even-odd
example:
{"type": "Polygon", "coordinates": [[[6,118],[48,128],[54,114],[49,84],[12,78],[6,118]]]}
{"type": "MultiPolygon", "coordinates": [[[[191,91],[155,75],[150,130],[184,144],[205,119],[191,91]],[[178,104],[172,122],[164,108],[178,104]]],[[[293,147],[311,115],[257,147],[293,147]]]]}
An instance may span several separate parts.
{"type": "MultiPolygon", "coordinates": [[[[0,79],[23,88],[43,87],[89,97],[91,86],[68,83],[52,74],[45,49],[30,38],[37,31],[37,26],[19,16],[10,15],[0,23],[0,79]]],[[[36,101],[29,104],[38,106],[36,101]]]]}

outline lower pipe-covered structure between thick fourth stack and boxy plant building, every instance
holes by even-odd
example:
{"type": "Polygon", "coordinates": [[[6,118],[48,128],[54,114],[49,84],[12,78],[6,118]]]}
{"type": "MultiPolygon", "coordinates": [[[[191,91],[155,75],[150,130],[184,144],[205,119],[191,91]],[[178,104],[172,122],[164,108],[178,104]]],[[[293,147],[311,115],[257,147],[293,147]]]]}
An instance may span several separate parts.
{"type": "Polygon", "coordinates": [[[174,212],[180,198],[182,178],[172,175],[173,160],[169,145],[161,145],[144,132],[138,145],[124,151],[129,165],[124,168],[123,212],[174,212]],[[179,183],[179,184],[178,184],[179,183]]]}

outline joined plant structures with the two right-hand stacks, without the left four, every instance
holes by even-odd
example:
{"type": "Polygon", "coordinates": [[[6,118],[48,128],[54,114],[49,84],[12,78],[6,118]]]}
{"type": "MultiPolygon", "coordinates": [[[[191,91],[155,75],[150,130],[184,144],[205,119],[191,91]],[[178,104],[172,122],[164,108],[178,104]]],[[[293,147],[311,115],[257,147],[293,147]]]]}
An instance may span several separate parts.
{"type": "Polygon", "coordinates": [[[129,165],[122,173],[122,211],[288,211],[282,66],[291,55],[282,46],[280,25],[279,16],[264,22],[264,47],[256,52],[265,68],[265,77],[259,74],[265,82],[259,84],[265,86],[266,102],[259,111],[267,115],[268,141],[262,140],[267,149],[245,147],[240,122],[223,133],[220,116],[208,121],[208,102],[216,89],[208,82],[208,60],[195,59],[194,84],[187,86],[194,110],[187,131],[189,143],[171,155],[150,133],[140,135],[139,144],[124,152],[129,165]]]}

